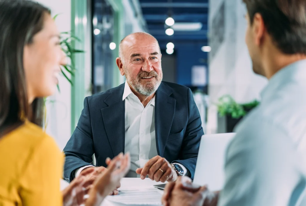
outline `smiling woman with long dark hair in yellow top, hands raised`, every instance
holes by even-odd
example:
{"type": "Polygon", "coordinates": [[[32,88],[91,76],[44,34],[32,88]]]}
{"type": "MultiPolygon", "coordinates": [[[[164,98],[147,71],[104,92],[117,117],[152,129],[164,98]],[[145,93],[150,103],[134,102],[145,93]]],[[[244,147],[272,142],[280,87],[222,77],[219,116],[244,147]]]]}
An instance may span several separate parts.
{"type": "Polygon", "coordinates": [[[59,40],[49,9],[0,0],[0,205],[99,205],[129,169],[129,155],[120,154],[91,189],[80,176],[60,192],[64,157],[41,128],[43,97],[66,63],[59,40]]]}

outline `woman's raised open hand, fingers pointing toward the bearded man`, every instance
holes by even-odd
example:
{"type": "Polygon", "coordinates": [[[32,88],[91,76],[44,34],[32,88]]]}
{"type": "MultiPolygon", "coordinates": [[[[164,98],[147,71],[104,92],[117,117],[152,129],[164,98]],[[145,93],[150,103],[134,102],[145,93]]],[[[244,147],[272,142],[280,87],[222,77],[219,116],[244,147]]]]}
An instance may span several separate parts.
{"type": "Polygon", "coordinates": [[[129,171],[130,168],[130,155],[129,153],[123,155],[120,153],[113,160],[108,160],[107,170],[104,170],[93,183],[93,187],[89,190],[89,198],[86,201],[86,206],[98,206],[104,198],[113,192],[120,180],[129,171]]]}

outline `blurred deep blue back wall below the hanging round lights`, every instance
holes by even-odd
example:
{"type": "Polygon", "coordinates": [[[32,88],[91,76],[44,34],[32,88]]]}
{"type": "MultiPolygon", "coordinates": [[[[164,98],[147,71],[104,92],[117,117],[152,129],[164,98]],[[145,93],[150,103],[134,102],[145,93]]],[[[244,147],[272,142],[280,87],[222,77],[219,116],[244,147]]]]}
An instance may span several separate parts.
{"type": "MultiPolygon", "coordinates": [[[[176,46],[176,45],[175,45],[176,46]]],[[[177,83],[191,85],[191,68],[194,65],[207,66],[208,53],[202,52],[204,45],[177,45],[175,47],[177,57],[177,83]],[[203,61],[204,60],[204,61],[203,61]]],[[[208,76],[208,75],[207,75],[208,76]]]]}

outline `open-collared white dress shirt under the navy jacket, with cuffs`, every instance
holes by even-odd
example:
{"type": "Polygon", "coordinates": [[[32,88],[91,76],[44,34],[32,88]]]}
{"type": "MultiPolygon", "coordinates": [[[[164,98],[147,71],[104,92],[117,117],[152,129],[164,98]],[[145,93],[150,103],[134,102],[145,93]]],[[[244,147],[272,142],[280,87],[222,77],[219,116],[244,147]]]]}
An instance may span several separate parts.
{"type": "MultiPolygon", "coordinates": [[[[144,107],[125,81],[122,101],[125,100],[125,153],[130,152],[131,168],[126,177],[140,177],[137,168],[142,168],[151,158],[158,155],[155,138],[155,96],[144,107]]],[[[178,164],[178,163],[176,163],[178,164]]],[[[184,170],[187,169],[179,164],[184,170]]],[[[77,169],[75,176],[92,165],[77,169]]]]}

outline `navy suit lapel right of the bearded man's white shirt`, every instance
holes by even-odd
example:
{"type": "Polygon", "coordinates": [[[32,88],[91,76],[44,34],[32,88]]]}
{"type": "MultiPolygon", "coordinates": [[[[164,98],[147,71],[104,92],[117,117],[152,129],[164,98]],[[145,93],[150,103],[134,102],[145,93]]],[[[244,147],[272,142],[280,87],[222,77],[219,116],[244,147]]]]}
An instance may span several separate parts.
{"type": "Polygon", "coordinates": [[[161,157],[164,155],[175,113],[176,99],[171,94],[170,88],[162,82],[155,96],[155,137],[157,152],[161,157]]]}

